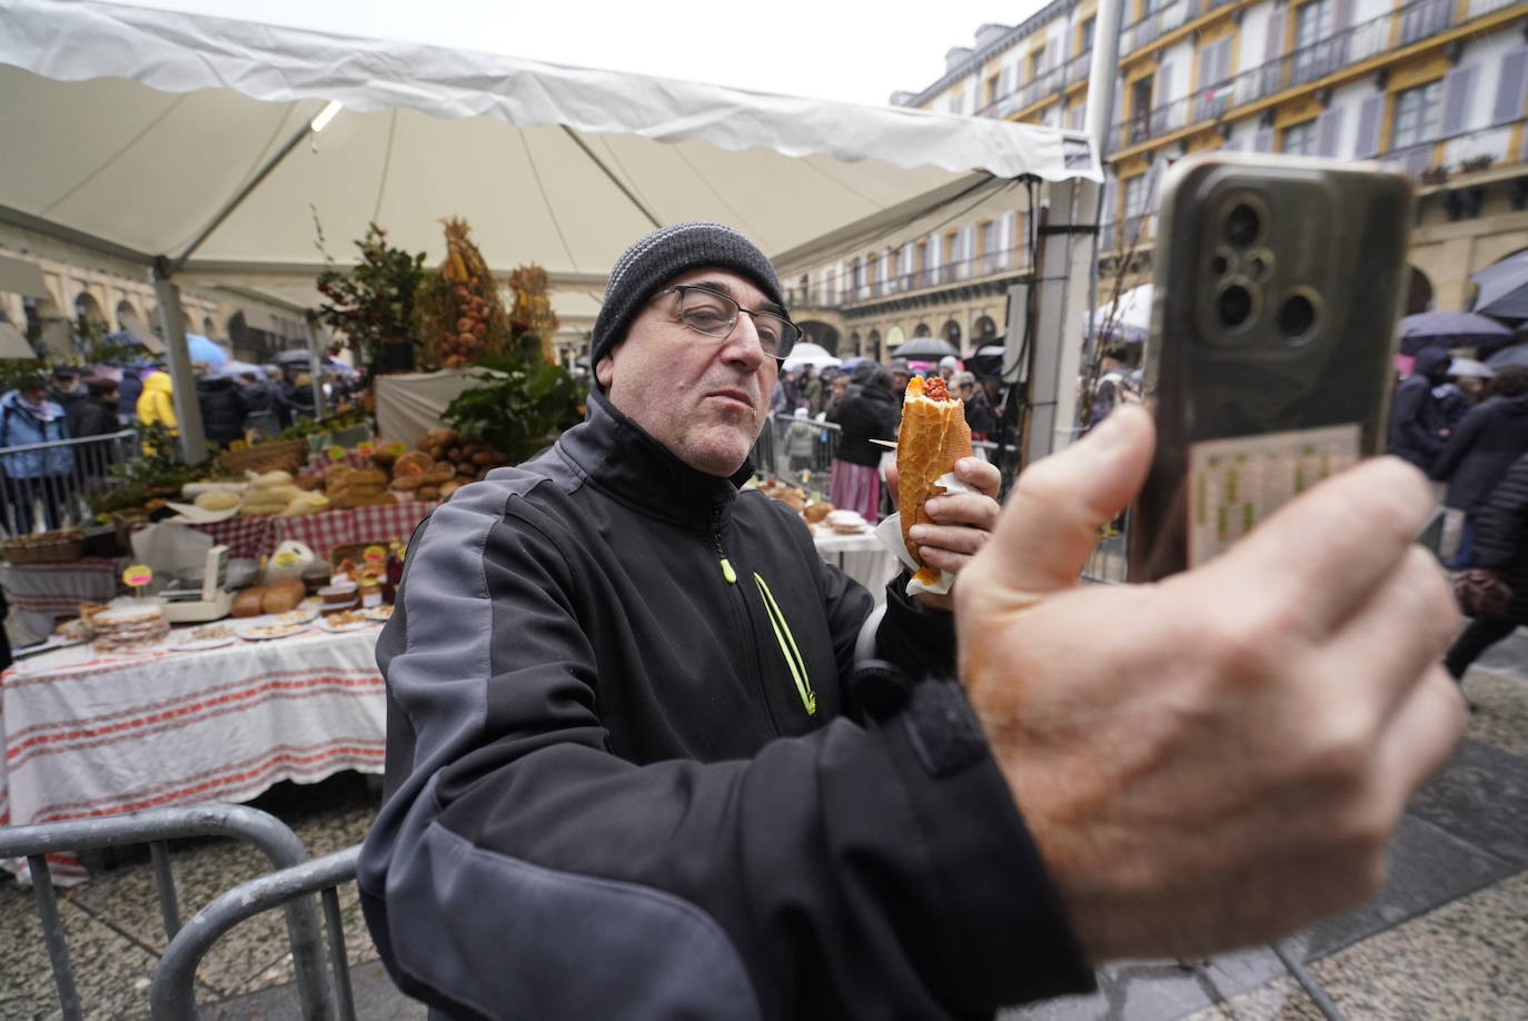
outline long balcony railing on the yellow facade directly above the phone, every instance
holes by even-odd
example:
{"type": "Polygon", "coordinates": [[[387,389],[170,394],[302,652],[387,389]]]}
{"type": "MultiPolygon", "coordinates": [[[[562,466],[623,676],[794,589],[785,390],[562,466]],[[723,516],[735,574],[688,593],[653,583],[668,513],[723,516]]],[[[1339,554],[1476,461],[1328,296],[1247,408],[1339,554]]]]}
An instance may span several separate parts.
{"type": "MultiPolygon", "coordinates": [[[[1204,0],[1198,2],[1204,3],[1204,0]]],[[[1467,18],[1476,18],[1504,6],[1508,6],[1508,0],[1471,0],[1467,18]]],[[[1273,96],[1285,89],[1309,84],[1348,64],[1436,35],[1459,23],[1455,18],[1455,9],[1453,0],[1413,0],[1398,11],[1381,14],[1320,43],[1300,47],[1224,81],[1201,86],[1190,96],[1174,99],[1148,110],[1144,115],[1135,115],[1115,124],[1115,145],[1137,145],[1166,131],[1203,121],[1215,121],[1236,107],[1273,96]]]]}

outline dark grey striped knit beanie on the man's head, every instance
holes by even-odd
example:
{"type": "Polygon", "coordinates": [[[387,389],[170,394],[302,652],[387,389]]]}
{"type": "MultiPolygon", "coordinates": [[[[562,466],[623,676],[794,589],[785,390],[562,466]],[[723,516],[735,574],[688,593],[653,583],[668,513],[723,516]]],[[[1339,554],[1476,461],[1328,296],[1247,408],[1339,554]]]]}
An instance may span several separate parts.
{"type": "Polygon", "coordinates": [[[610,283],[605,284],[605,304],[594,319],[590,365],[599,365],[625,339],[637,310],[663,284],[703,266],[730,269],[747,277],[770,301],[785,307],[775,267],[753,241],[721,223],[675,223],[648,234],[616,260],[610,283]]]}

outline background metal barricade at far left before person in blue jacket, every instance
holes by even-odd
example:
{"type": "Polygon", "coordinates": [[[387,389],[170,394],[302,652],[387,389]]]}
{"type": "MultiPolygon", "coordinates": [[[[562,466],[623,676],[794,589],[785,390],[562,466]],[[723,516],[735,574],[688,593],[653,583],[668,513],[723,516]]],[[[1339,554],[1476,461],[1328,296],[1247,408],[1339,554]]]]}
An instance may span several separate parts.
{"type": "Polygon", "coordinates": [[[112,483],[112,465],[138,455],[131,429],[76,440],[0,446],[0,535],[66,529],[92,517],[90,497],[112,483]]]}

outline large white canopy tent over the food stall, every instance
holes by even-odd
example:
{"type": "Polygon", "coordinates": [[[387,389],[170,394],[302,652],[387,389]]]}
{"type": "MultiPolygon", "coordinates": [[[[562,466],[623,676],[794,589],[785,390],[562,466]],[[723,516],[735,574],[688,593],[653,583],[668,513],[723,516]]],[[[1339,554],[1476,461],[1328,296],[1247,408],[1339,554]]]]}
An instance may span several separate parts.
{"type": "MultiPolygon", "coordinates": [[[[1102,179],[1085,136],[1005,121],[104,0],[0,0],[0,220],[156,266],[162,287],[290,300],[322,264],[315,219],[345,264],[371,220],[435,261],[439,220],[461,216],[495,271],[535,261],[597,295],[656,225],[723,220],[805,266],[999,190],[1013,208],[1015,177],[1102,179]]],[[[183,326],[167,335],[186,371],[183,326]]]]}

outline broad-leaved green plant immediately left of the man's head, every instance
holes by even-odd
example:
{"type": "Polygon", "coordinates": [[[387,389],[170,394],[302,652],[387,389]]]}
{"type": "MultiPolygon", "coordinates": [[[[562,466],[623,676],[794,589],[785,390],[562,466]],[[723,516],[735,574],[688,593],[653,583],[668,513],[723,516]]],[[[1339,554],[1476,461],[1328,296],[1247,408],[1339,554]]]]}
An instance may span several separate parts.
{"type": "MultiPolygon", "coordinates": [[[[523,341],[521,347],[535,344],[535,350],[541,350],[535,335],[523,333],[516,339],[523,341]]],[[[487,370],[472,376],[478,385],[457,394],[443,417],[458,433],[481,437],[512,465],[584,419],[585,385],[561,365],[539,358],[494,355],[478,367],[487,370]]]]}

